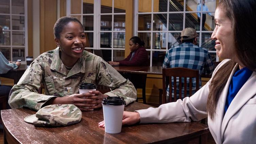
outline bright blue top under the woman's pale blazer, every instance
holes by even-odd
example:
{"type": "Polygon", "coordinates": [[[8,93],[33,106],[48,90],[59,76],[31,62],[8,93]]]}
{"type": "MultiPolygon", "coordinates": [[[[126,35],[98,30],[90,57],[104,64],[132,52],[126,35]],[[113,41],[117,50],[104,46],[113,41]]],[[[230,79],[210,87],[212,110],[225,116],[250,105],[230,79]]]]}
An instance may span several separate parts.
{"type": "Polygon", "coordinates": [[[232,80],[229,84],[229,89],[227,93],[227,100],[225,105],[225,113],[227,112],[227,109],[231,103],[231,101],[235,98],[238,91],[241,89],[241,87],[244,85],[244,83],[251,77],[253,71],[248,69],[247,67],[244,67],[234,74],[232,77],[232,80]]]}

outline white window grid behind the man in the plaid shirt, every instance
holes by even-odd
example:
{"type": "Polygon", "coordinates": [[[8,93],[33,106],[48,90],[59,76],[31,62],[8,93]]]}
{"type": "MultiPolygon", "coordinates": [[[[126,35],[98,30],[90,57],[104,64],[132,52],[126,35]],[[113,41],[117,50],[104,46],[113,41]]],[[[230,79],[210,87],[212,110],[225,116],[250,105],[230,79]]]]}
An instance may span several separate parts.
{"type": "MultiPolygon", "coordinates": [[[[201,0],[203,2],[203,0],[201,0]]],[[[170,2],[168,0],[167,2],[167,12],[153,12],[154,11],[154,0],[151,0],[151,12],[140,12],[139,13],[139,0],[135,0],[134,2],[134,34],[138,36],[138,33],[151,33],[151,46],[150,49],[146,49],[147,51],[150,51],[150,66],[152,66],[152,56],[153,51],[167,51],[168,50],[168,33],[181,33],[181,31],[169,31],[169,14],[183,14],[183,29],[185,29],[185,18],[186,14],[188,13],[198,13],[197,11],[186,11],[186,0],[184,0],[184,6],[182,12],[169,12],[169,5],[170,2]],[[139,14],[151,14],[151,30],[150,31],[138,31],[138,18],[139,14]],[[166,25],[166,31],[153,31],[153,16],[154,14],[167,14],[167,25],[166,25]],[[165,33],[166,35],[166,49],[153,49],[153,34],[154,33],[165,33]]],[[[202,13],[215,13],[215,11],[202,11],[203,7],[201,6],[201,15],[202,13]]],[[[202,33],[212,33],[213,31],[202,31],[202,19],[200,21],[200,30],[196,31],[197,33],[200,33],[199,37],[202,36],[202,33]]],[[[199,39],[199,47],[202,45],[202,38],[199,39]]],[[[209,53],[216,53],[216,51],[209,51],[209,53]]],[[[219,61],[219,57],[216,54],[216,61],[219,61]]]]}

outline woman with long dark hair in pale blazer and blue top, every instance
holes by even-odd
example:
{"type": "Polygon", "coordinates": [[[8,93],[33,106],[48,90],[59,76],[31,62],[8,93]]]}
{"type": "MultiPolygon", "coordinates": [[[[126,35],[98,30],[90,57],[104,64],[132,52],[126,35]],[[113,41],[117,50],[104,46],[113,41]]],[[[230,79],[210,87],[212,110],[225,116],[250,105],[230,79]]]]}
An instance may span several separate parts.
{"type": "MultiPolygon", "coordinates": [[[[216,143],[256,141],[256,0],[221,0],[211,38],[223,60],[193,96],[158,108],[124,112],[123,124],[200,121],[216,143]]],[[[104,126],[103,122],[99,126],[104,126]]]]}

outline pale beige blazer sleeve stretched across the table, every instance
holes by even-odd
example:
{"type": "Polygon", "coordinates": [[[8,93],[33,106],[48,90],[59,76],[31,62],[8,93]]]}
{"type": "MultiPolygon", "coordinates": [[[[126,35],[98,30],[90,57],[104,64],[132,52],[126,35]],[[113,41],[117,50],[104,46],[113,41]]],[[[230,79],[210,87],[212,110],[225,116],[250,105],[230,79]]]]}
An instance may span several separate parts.
{"type": "MultiPolygon", "coordinates": [[[[213,76],[217,69],[227,61],[224,60],[224,62],[217,66],[213,72],[213,76]]],[[[191,97],[186,97],[183,100],[178,99],[176,102],[165,103],[158,108],[136,111],[140,114],[140,123],[191,122],[207,117],[206,105],[211,80],[191,97]]]]}

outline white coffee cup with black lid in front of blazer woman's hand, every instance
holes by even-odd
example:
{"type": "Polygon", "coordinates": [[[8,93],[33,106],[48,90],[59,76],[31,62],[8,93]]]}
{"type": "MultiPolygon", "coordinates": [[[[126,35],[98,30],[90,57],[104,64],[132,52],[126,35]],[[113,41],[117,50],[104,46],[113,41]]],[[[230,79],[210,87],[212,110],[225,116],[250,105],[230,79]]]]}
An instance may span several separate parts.
{"type": "Polygon", "coordinates": [[[125,101],[123,97],[106,97],[102,100],[105,132],[119,133],[122,130],[125,101]]]}

